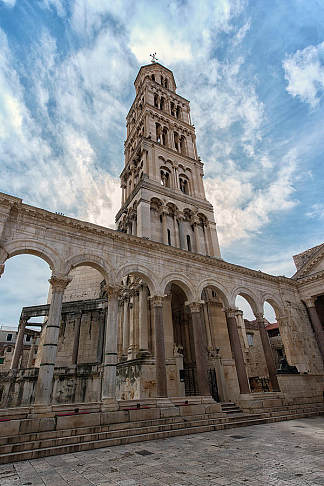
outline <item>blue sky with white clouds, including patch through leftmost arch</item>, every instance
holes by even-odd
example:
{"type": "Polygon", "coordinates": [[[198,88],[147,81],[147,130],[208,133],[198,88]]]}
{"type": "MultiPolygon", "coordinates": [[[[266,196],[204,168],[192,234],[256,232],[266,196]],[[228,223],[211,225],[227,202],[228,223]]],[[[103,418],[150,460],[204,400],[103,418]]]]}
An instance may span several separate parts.
{"type": "MultiPolygon", "coordinates": [[[[322,0],[0,0],[0,191],[114,227],[133,82],[156,52],[191,102],[222,257],[291,276],[324,241],[323,25],[322,0]]],[[[0,324],[44,303],[49,276],[10,259],[0,324]]]]}

